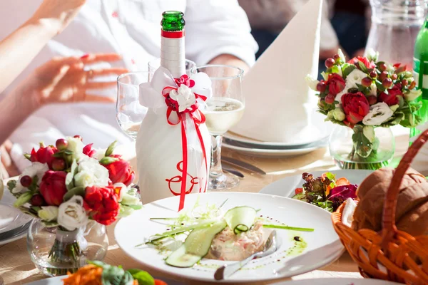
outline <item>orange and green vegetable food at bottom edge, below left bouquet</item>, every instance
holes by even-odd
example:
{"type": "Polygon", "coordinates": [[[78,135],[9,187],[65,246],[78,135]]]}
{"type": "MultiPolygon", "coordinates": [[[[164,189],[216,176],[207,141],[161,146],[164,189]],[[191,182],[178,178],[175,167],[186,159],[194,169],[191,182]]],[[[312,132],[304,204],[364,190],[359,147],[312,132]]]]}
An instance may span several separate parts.
{"type": "Polygon", "coordinates": [[[68,273],[64,285],[167,285],[165,282],[139,269],[125,270],[121,266],[111,266],[101,261],[89,261],[76,273],[68,273]]]}

